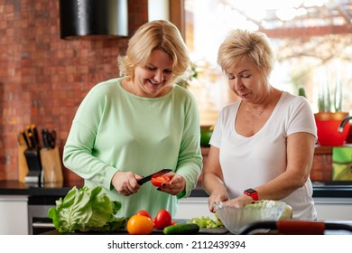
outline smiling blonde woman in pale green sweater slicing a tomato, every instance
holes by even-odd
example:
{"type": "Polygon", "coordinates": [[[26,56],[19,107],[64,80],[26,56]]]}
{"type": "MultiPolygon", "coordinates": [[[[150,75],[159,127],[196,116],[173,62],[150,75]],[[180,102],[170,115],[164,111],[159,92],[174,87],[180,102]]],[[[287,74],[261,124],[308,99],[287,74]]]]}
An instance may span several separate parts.
{"type": "Polygon", "coordinates": [[[174,216],[202,167],[197,103],[176,85],[190,63],[187,48],[172,23],[153,21],[134,33],[118,62],[121,77],[97,84],[79,106],[64,165],[121,201],[119,216],[161,209],[174,216]],[[162,168],[172,170],[163,187],[137,183],[162,168]]]}

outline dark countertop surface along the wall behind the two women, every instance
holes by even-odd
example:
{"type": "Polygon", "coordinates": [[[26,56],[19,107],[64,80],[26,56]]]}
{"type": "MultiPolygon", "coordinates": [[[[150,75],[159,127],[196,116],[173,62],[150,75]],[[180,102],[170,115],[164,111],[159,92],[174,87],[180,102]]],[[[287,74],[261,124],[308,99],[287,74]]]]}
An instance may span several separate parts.
{"type": "MultiPolygon", "coordinates": [[[[50,183],[40,187],[17,181],[0,181],[0,195],[49,196],[58,198],[65,196],[73,187],[82,187],[82,182],[50,183]]],[[[190,197],[208,197],[200,183],[191,192],[190,197]]],[[[351,183],[313,183],[314,198],[352,198],[351,183]]]]}

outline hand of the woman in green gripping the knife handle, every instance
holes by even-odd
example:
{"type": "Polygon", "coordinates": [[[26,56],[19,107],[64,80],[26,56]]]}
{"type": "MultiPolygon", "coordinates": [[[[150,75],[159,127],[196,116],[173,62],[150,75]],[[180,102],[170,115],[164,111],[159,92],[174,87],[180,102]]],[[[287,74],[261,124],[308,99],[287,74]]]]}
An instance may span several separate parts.
{"type": "Polygon", "coordinates": [[[118,171],[114,174],[111,183],[114,185],[118,193],[129,196],[138,192],[141,186],[137,183],[137,180],[141,178],[142,176],[133,172],[118,171]]]}

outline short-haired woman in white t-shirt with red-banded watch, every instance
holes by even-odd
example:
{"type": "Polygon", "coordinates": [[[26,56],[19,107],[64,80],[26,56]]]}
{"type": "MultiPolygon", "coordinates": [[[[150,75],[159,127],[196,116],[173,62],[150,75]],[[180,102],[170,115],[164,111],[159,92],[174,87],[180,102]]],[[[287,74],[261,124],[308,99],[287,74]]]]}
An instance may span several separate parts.
{"type": "Polygon", "coordinates": [[[280,200],[293,219],[316,220],[309,176],[317,129],[307,99],[270,84],[274,57],[264,33],[230,33],[218,64],[240,99],[221,110],[209,142],[209,210],[217,201],[280,200]]]}

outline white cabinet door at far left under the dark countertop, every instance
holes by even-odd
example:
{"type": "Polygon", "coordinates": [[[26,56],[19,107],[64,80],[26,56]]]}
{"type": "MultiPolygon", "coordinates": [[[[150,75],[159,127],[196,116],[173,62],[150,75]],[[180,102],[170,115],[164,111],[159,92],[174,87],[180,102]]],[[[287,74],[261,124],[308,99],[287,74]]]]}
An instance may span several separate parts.
{"type": "Polygon", "coordinates": [[[0,235],[28,235],[27,203],[27,196],[0,196],[0,235]]]}

